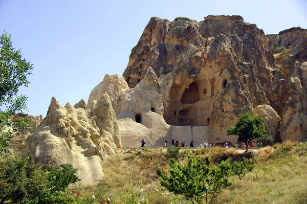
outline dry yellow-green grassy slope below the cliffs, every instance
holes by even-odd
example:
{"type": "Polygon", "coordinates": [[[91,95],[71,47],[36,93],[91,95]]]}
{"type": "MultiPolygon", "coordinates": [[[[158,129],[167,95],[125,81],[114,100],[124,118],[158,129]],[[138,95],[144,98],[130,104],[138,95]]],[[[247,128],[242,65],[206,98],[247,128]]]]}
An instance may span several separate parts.
{"type": "MultiPolygon", "coordinates": [[[[189,203],[184,197],[163,190],[156,178],[155,158],[167,170],[165,151],[163,148],[121,150],[104,162],[105,176],[98,187],[74,188],[72,192],[78,196],[95,194],[99,198],[96,203],[106,203],[107,198],[113,203],[127,203],[123,200],[131,197],[131,192],[135,192],[140,203],[145,203],[142,199],[148,203],[189,203]]],[[[212,161],[218,157],[248,156],[223,148],[184,151],[193,156],[211,155],[212,161]]],[[[259,150],[255,158],[255,169],[241,182],[233,177],[233,185],[217,196],[214,203],[307,203],[307,144],[267,147],[259,150]]]]}

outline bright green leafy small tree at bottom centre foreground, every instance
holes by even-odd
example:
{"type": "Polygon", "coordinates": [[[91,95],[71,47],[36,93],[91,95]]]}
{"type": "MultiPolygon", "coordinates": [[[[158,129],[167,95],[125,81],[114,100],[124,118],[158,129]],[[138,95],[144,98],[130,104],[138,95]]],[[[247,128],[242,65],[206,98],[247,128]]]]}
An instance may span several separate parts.
{"type": "Polygon", "coordinates": [[[169,174],[163,174],[157,162],[157,174],[160,184],[175,195],[182,194],[192,203],[211,203],[213,198],[232,183],[230,160],[210,166],[210,157],[206,157],[206,165],[200,156],[188,156],[188,164],[169,161],[169,174]],[[203,200],[205,199],[205,202],[203,200]]]}

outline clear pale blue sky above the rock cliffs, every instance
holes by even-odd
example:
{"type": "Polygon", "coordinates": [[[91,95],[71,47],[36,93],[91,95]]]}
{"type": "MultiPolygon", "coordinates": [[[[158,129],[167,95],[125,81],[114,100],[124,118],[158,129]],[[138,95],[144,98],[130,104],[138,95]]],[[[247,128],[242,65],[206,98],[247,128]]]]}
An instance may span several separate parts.
{"type": "Polygon", "coordinates": [[[46,116],[53,96],[62,106],[87,102],[105,74],[122,76],[150,17],[223,14],[241,15],[266,34],[307,28],[306,0],[0,0],[0,30],[34,64],[31,83],[20,89],[27,113],[46,116]]]}

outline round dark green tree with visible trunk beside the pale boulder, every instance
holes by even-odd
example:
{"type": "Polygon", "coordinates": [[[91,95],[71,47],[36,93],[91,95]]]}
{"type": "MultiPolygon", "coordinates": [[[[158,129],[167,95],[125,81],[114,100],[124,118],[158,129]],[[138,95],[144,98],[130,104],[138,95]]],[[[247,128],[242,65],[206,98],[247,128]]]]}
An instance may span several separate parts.
{"type": "Polygon", "coordinates": [[[246,151],[252,140],[265,139],[266,126],[259,116],[253,116],[250,112],[245,112],[239,116],[233,127],[227,129],[227,135],[238,135],[239,139],[246,144],[246,151]]]}

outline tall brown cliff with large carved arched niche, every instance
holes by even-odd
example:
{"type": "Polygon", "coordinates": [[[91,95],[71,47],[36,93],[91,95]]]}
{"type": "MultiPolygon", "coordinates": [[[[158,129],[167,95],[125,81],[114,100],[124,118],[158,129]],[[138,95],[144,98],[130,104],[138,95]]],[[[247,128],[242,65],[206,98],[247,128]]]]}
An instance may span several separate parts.
{"type": "MultiPolygon", "coordinates": [[[[297,36],[302,34],[289,40],[297,36]]],[[[268,104],[283,115],[289,79],[275,71],[271,47],[264,32],[240,16],[208,16],[201,22],[154,17],[131,51],[123,77],[134,87],[151,66],[159,78],[168,124],[203,126],[209,117],[210,142],[235,142],[226,129],[242,112],[268,104]]]]}

